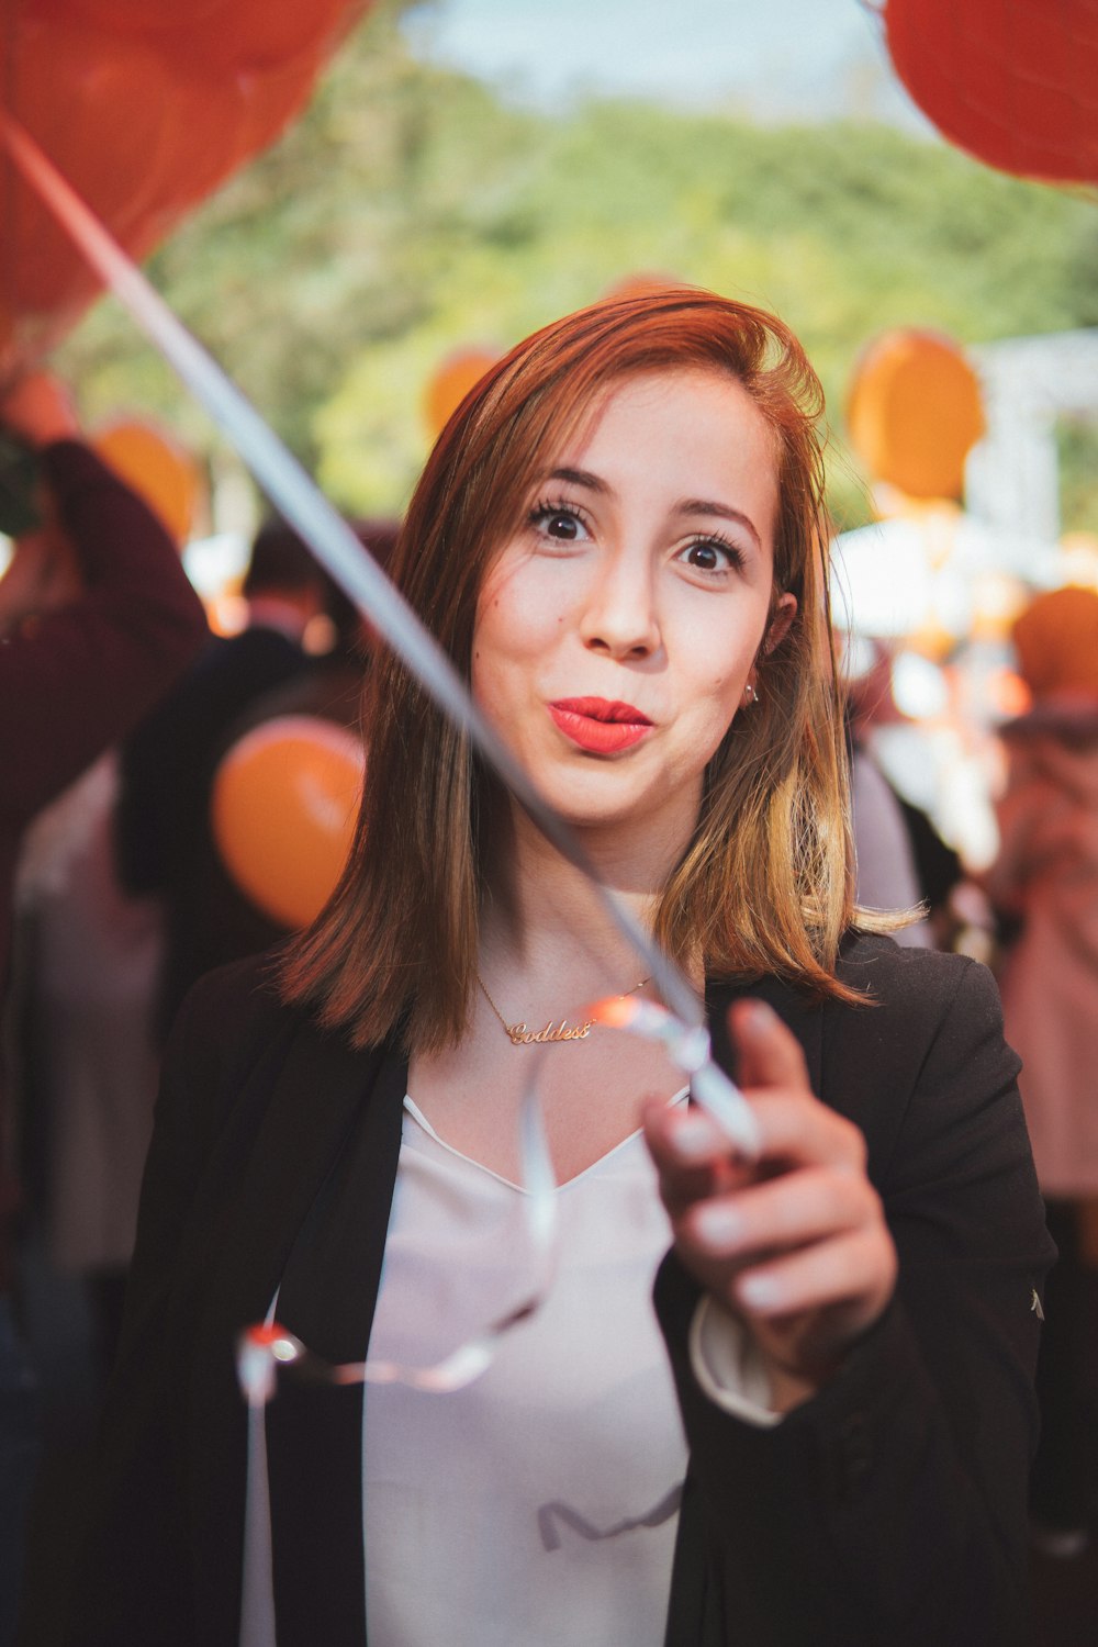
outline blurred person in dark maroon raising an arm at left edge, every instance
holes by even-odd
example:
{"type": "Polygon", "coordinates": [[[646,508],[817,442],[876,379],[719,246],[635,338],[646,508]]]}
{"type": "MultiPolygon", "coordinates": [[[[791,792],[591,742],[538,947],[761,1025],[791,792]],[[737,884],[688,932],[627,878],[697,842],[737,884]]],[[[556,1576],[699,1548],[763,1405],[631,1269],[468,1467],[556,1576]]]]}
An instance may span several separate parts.
{"type": "MultiPolygon", "coordinates": [[[[81,441],[66,390],[31,374],[0,425],[38,453],[38,530],[0,580],[0,1000],[26,825],[123,736],[202,644],[202,606],[151,511],[81,441]]],[[[0,1064],[0,1644],[10,1640],[36,1454],[33,1377],[13,1309],[13,1125],[0,1064]]]]}

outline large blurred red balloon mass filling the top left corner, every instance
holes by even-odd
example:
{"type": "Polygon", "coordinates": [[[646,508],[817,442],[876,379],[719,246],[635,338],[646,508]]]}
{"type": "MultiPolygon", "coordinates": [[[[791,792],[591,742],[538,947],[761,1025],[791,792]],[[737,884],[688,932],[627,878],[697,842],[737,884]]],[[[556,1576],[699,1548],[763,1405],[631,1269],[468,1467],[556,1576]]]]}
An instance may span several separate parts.
{"type": "MultiPolygon", "coordinates": [[[[140,259],[280,135],[367,5],[35,0],[0,31],[0,100],[140,259]]],[[[0,189],[0,359],[10,359],[54,343],[99,280],[2,150],[0,189]]]]}

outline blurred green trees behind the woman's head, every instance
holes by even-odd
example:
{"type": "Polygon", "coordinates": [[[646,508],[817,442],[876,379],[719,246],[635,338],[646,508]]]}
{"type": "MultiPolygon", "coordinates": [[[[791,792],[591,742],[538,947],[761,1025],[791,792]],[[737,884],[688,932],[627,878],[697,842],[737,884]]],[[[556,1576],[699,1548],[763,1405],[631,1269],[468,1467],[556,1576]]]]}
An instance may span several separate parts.
{"type": "MultiPolygon", "coordinates": [[[[831,415],[894,324],[976,343],[1098,324],[1090,201],[858,122],[761,127],[734,110],[591,102],[558,117],[416,63],[380,5],[306,117],[150,262],[189,326],[329,494],[398,509],[426,450],[420,404],[453,348],[505,348],[640,270],[775,308],[831,415]]],[[[214,436],[109,300],[64,349],[91,415],[120,404],[214,436]]],[[[1072,469],[1065,504],[1098,525],[1072,469]]],[[[835,443],[833,507],[864,519],[835,443]]]]}

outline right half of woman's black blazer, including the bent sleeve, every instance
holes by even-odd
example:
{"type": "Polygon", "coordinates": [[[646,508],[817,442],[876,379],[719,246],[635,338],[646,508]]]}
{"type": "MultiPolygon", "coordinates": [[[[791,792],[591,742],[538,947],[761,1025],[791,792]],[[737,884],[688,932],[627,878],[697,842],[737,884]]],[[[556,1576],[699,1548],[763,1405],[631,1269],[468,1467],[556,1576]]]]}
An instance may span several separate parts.
{"type": "Polygon", "coordinates": [[[989,973],[933,955],[907,972],[902,998],[825,1008],[821,1095],[864,1120],[899,1252],[896,1298],[841,1372],[780,1425],[742,1423],[693,1379],[696,1286],[673,1253],[657,1278],[690,1441],[675,1647],[1027,1640],[1052,1247],[989,973]]]}

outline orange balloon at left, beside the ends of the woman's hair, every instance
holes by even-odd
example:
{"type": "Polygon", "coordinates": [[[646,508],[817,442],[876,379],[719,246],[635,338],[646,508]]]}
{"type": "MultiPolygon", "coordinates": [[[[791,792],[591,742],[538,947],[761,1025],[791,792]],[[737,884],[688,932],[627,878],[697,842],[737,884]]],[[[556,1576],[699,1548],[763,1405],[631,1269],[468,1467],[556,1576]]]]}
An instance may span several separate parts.
{"type": "Polygon", "coordinates": [[[265,721],[217,768],[217,851],[240,891],[281,926],[308,926],[336,889],[364,771],[361,741],[314,715],[265,721]]]}

